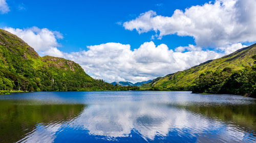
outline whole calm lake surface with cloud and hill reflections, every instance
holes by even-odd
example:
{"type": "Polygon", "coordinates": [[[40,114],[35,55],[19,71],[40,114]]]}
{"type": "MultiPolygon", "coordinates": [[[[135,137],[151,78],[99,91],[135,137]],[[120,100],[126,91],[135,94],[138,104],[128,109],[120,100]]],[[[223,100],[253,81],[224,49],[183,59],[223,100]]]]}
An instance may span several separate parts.
{"type": "Polygon", "coordinates": [[[0,142],[256,142],[256,102],[167,91],[0,95],[0,142]]]}

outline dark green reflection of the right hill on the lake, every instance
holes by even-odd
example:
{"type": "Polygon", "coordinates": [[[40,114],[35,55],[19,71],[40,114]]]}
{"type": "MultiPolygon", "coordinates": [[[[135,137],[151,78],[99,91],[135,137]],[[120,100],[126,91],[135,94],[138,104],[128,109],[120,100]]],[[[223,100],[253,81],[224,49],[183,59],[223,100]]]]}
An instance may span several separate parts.
{"type": "Polygon", "coordinates": [[[188,104],[174,105],[202,116],[212,117],[222,122],[240,125],[256,131],[256,106],[254,104],[222,105],[222,104],[188,104]]]}

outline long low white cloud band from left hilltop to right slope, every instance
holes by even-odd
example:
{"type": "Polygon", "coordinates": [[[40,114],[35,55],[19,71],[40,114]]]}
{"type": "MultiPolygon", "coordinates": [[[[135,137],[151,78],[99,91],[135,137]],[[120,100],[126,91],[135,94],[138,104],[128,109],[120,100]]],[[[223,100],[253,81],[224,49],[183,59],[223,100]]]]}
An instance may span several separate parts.
{"type": "Polygon", "coordinates": [[[145,42],[132,50],[129,44],[105,43],[88,46],[87,50],[65,53],[59,50],[57,39],[63,38],[59,32],[37,27],[24,30],[5,28],[17,35],[42,55],[66,58],[80,64],[89,75],[105,81],[144,81],[188,69],[207,60],[216,59],[236,49],[241,43],[220,47],[217,51],[204,50],[199,46],[188,45],[170,49],[165,44],[155,45],[145,42]]]}

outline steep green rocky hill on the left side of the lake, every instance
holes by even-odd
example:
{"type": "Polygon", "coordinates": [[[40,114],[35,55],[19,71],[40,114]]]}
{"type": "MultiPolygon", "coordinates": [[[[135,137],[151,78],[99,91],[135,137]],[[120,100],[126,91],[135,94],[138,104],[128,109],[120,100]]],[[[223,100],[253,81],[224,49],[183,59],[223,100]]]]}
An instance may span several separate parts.
{"type": "Polygon", "coordinates": [[[101,91],[117,88],[93,79],[73,61],[39,56],[22,39],[0,29],[0,90],[101,91]]]}

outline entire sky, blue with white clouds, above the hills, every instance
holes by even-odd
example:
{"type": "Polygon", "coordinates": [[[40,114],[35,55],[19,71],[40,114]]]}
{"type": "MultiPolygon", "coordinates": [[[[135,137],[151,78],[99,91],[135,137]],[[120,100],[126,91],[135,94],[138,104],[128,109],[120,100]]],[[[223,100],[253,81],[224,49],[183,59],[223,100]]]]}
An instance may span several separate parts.
{"type": "Polygon", "coordinates": [[[0,0],[0,27],[94,78],[144,81],[256,41],[256,1],[0,0]]]}

